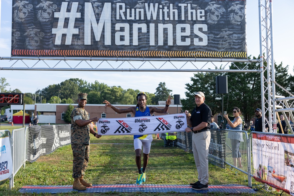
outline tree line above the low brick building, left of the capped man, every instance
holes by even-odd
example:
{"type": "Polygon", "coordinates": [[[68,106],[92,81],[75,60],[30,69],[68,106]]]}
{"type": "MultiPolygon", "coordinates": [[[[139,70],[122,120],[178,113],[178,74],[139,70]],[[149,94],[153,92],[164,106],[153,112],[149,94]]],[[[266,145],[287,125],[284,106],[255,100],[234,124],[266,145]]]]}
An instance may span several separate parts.
{"type": "MultiPolygon", "coordinates": [[[[2,93],[22,93],[19,89],[6,90],[10,86],[6,78],[0,78],[0,91],[2,93]]],[[[108,86],[105,83],[88,83],[79,78],[71,78],[59,84],[49,85],[46,88],[39,89],[35,93],[24,93],[24,103],[77,103],[78,93],[87,93],[88,104],[103,104],[108,100],[113,104],[136,105],[136,96],[140,92],[138,89],[123,89],[121,86],[108,86]]],[[[148,99],[148,105],[157,105],[158,101],[166,100],[172,90],[166,87],[165,82],[160,82],[155,93],[145,92],[148,99]]]]}

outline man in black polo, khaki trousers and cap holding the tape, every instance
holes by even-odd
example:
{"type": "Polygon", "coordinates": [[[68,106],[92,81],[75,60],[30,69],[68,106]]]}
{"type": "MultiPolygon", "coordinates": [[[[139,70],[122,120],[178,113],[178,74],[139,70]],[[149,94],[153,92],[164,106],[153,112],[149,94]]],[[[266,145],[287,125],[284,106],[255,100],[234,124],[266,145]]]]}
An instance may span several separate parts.
{"type": "Polygon", "coordinates": [[[188,117],[188,110],[185,111],[187,124],[185,129],[192,134],[192,150],[198,172],[198,181],[191,183],[194,190],[208,190],[208,148],[210,144],[210,120],[211,109],[204,103],[205,95],[197,92],[195,95],[196,108],[188,117]]]}

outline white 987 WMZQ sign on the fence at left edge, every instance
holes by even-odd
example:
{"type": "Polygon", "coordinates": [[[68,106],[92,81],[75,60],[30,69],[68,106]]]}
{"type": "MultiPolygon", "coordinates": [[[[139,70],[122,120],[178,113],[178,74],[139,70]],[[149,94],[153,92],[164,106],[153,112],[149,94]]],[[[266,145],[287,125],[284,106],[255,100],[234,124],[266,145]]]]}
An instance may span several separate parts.
{"type": "Polygon", "coordinates": [[[12,155],[9,135],[5,131],[0,132],[0,182],[12,175],[12,155]],[[3,134],[4,133],[4,134],[3,134]]]}

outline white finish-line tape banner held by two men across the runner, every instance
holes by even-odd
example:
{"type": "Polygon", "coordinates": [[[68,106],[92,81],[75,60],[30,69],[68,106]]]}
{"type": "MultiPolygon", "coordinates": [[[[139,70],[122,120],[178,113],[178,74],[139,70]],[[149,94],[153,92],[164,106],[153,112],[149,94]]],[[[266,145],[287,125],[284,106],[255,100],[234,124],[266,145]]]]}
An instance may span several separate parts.
{"type": "Polygon", "coordinates": [[[100,135],[149,135],[185,131],[187,120],[183,113],[132,118],[99,118],[96,126],[100,135]]]}

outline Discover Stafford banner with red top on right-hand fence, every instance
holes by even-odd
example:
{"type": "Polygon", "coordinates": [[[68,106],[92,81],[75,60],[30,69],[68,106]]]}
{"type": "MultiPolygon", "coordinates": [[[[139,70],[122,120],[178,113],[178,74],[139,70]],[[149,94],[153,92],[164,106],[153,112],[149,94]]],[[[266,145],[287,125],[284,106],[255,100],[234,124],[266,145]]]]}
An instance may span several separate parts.
{"type": "Polygon", "coordinates": [[[253,177],[294,195],[294,137],[252,134],[253,177]]]}

